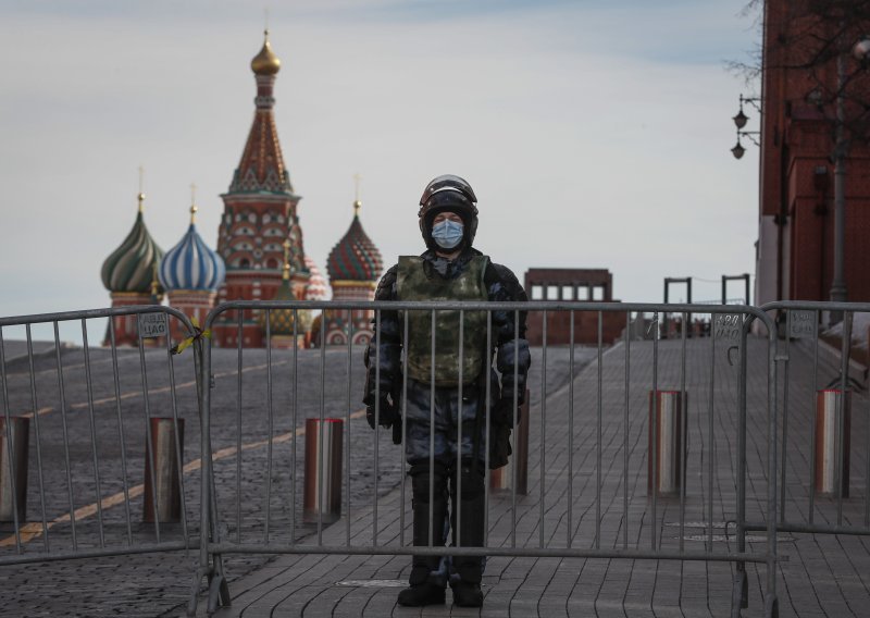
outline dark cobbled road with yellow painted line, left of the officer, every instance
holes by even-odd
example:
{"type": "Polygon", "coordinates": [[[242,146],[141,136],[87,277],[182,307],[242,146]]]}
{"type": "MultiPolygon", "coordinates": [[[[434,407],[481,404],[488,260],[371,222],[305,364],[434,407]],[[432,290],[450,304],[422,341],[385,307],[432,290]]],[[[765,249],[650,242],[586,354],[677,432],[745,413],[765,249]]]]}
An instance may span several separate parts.
{"type": "MultiPolygon", "coordinates": [[[[30,418],[30,448],[27,524],[16,535],[12,522],[0,523],[0,558],[14,554],[18,543],[22,555],[34,559],[40,554],[57,556],[101,547],[123,552],[129,545],[153,544],[158,537],[163,543],[187,540],[192,548],[0,566],[3,615],[178,615],[189,596],[199,536],[200,438],[192,356],[170,357],[163,348],[146,348],[141,354],[121,348],[115,360],[108,349],[90,348],[86,372],[82,348],[62,346],[58,355],[53,346],[35,343],[32,372],[26,346],[5,344],[8,388],[0,416],[8,409],[11,416],[30,418]],[[18,354],[22,350],[24,355],[18,354]],[[173,411],[186,421],[185,517],[181,523],[147,524],[141,521],[145,419],[172,417],[173,411]]],[[[552,348],[548,354],[558,360],[568,353],[552,348]]],[[[540,350],[535,355],[539,358],[540,350]]],[[[575,372],[589,356],[588,350],[577,348],[575,372]]],[[[273,540],[312,534],[312,526],[301,522],[301,472],[295,473],[303,466],[303,440],[297,441],[295,468],[291,445],[304,419],[319,417],[321,411],[324,417],[351,417],[350,507],[370,504],[375,484],[371,468],[375,434],[359,415],[361,359],[361,348],[328,348],[323,355],[299,350],[294,374],[294,356],[288,350],[273,350],[271,359],[265,350],[245,350],[241,359],[235,350],[214,350],[214,471],[221,530],[226,537],[243,542],[249,535],[261,537],[266,514],[273,540]],[[271,374],[266,371],[270,361],[271,374]],[[239,445],[241,456],[237,457],[239,445]],[[271,486],[271,508],[265,508],[266,485],[271,486]],[[294,491],[295,509],[289,499],[294,491]]],[[[551,390],[568,381],[567,362],[550,361],[548,367],[551,390]]],[[[539,396],[539,392],[533,393],[533,400],[539,396]]],[[[384,454],[376,475],[377,493],[386,496],[399,482],[400,461],[388,436],[382,435],[377,448],[384,454]]],[[[227,573],[232,581],[269,561],[263,556],[229,556],[227,573]]]]}

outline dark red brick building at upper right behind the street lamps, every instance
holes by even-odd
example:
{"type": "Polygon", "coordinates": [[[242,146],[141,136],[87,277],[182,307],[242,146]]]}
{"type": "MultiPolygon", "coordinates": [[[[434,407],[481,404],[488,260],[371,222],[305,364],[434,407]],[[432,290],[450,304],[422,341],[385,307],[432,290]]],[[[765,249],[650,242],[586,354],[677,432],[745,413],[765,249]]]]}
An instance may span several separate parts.
{"type": "MultiPolygon", "coordinates": [[[[870,24],[850,18],[843,27],[843,20],[813,14],[824,4],[765,2],[755,291],[759,305],[778,299],[830,299],[837,95],[843,97],[844,137],[849,140],[844,191],[847,299],[870,300],[870,152],[866,139],[870,125],[860,104],[870,99],[870,71],[850,53],[860,37],[870,33],[870,24]],[[825,46],[824,41],[833,44],[825,46]],[[837,76],[838,57],[845,79],[837,76]]],[[[829,10],[852,10],[849,3],[841,3],[840,9],[826,4],[829,10]]]]}

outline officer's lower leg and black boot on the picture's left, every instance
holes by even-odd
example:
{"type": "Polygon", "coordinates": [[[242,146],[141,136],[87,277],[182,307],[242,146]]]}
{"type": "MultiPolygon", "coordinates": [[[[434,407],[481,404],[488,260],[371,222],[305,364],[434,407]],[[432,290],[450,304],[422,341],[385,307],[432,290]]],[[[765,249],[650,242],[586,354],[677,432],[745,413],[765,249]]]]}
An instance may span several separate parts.
{"type": "MultiPolygon", "coordinates": [[[[413,491],[413,543],[418,546],[428,546],[428,518],[430,518],[430,468],[428,462],[411,466],[411,487],[413,491]]],[[[447,479],[444,469],[436,462],[433,480],[432,520],[435,526],[432,530],[432,546],[443,547],[445,540],[445,524],[447,523],[447,479]]],[[[409,607],[423,605],[444,604],[444,590],[447,585],[446,572],[436,574],[440,570],[439,556],[413,556],[411,558],[411,574],[408,583],[411,585],[399,592],[398,603],[409,607]]]]}

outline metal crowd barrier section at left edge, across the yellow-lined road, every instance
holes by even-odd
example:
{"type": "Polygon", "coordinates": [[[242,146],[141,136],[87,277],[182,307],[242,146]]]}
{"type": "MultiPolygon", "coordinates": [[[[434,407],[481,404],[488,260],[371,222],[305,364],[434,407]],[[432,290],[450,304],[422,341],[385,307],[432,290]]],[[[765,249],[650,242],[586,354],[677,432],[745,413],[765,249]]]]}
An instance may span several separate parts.
{"type": "Polygon", "coordinates": [[[173,356],[171,332],[194,329],[160,306],[0,318],[0,565],[199,546],[199,368],[173,356]],[[152,435],[156,417],[169,441],[152,435]],[[166,482],[146,484],[146,469],[166,482]]]}

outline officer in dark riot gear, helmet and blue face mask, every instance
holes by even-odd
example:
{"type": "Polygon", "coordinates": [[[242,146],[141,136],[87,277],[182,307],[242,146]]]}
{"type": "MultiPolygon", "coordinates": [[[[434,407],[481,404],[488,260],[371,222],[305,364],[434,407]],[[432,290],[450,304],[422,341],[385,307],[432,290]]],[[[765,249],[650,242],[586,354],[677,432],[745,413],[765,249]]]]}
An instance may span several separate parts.
{"type": "MultiPolygon", "coordinates": [[[[508,268],[490,262],[472,247],[477,230],[476,201],[463,178],[444,175],[433,180],[423,191],[418,213],[427,250],[419,257],[400,257],[381,280],[375,300],[526,300],[508,268]]],[[[453,545],[483,546],[486,381],[489,380],[490,391],[489,467],[498,468],[507,464],[510,455],[508,440],[518,413],[515,407],[525,396],[531,363],[524,338],[525,312],[517,318],[513,311],[492,311],[488,337],[487,322],[486,311],[463,312],[460,355],[459,311],[437,311],[433,358],[432,313],[385,310],[380,330],[365,351],[363,400],[369,424],[372,429],[378,423],[394,428],[394,442],[398,443],[402,435],[401,411],[407,409],[403,433],[410,465],[414,545],[428,545],[431,534],[433,546],[443,546],[448,529],[452,529],[453,545]],[[493,349],[487,349],[487,341],[493,349]],[[402,376],[402,355],[407,357],[407,376],[402,376]],[[401,401],[405,381],[407,397],[401,401]],[[456,537],[457,527],[461,539],[456,537]]],[[[481,557],[443,560],[437,556],[414,556],[410,586],[399,593],[398,603],[444,603],[449,581],[453,603],[480,607],[483,566],[481,557]]]]}

